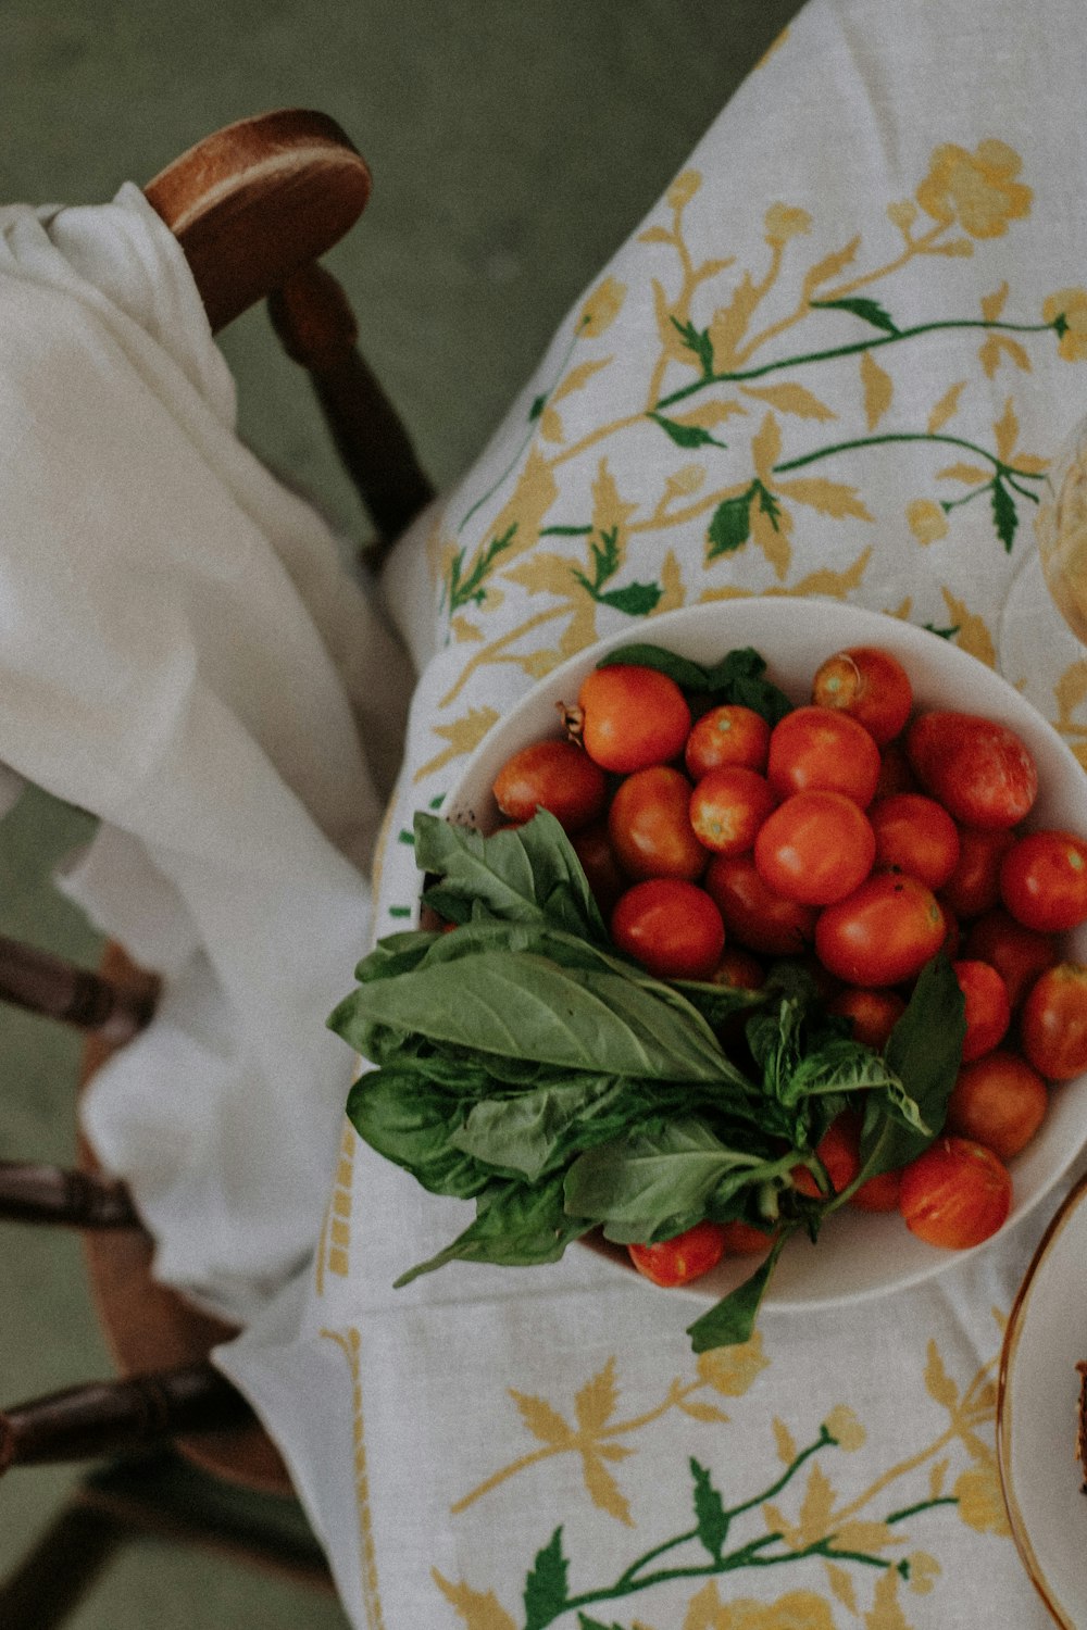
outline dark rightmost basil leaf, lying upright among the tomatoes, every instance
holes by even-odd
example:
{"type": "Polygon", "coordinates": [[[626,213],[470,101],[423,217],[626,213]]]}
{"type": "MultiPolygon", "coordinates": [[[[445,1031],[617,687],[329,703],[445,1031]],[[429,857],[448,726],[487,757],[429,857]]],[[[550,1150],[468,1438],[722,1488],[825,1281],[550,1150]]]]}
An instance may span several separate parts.
{"type": "Polygon", "coordinates": [[[918,1108],[919,1125],[872,1104],[860,1131],[860,1180],[914,1161],[939,1136],[963,1058],[966,1004],[945,952],[924,965],[883,1056],[918,1108]],[[924,1128],[924,1130],[921,1130],[924,1128]]]}

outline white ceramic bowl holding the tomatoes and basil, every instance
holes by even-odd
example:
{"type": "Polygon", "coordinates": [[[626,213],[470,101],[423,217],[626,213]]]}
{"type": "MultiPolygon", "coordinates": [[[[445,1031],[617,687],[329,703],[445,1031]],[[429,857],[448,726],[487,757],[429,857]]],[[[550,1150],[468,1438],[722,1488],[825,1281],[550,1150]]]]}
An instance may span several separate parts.
{"type": "MultiPolygon", "coordinates": [[[[582,678],[600,657],[632,641],[652,642],[694,662],[717,662],[725,652],[753,645],[772,678],[795,703],[807,703],[820,663],[846,645],[882,645],[909,673],[918,707],[952,707],[983,714],[1015,730],[1030,748],[1040,794],[1028,826],[1059,826],[1087,836],[1087,781],[1079,763],[1006,680],[958,647],[926,629],[877,611],[830,600],[732,600],[654,618],[601,641],[543,678],[489,732],[451,789],[443,813],[491,831],[499,810],[491,792],[497,771],[520,747],[559,734],[556,703],[575,703],[582,678]]],[[[1087,929],[1071,937],[1087,960],[1087,929]]],[[[1006,1227],[1032,1209],[1067,1170],[1087,1143],[1087,1092],[1077,1082],[1053,1090],[1040,1133],[1012,1162],[1014,1203],[1006,1227]]],[[[999,1239],[999,1234],[994,1236],[999,1239]]],[[[992,1244],[976,1247],[984,1250],[992,1244]]],[[[794,1236],[766,1293],[766,1307],[813,1307],[859,1301],[916,1284],[963,1260],[909,1234],[896,1214],[877,1216],[844,1208],[821,1231],[818,1244],[794,1236]]],[[[715,1301],[746,1278],[753,1258],[733,1258],[689,1286],[699,1301],[715,1301]]],[[[675,1291],[668,1293],[675,1296],[675,1291]]]]}

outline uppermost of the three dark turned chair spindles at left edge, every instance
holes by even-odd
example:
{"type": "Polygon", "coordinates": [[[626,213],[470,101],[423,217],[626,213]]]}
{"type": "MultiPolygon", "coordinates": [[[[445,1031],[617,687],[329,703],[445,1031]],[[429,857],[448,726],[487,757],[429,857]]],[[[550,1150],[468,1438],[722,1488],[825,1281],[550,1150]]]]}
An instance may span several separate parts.
{"type": "Polygon", "coordinates": [[[62,1019],[101,1035],[111,1045],[129,1042],[150,1022],[158,989],[153,975],[122,985],[46,950],[0,937],[0,1001],[62,1019]]]}

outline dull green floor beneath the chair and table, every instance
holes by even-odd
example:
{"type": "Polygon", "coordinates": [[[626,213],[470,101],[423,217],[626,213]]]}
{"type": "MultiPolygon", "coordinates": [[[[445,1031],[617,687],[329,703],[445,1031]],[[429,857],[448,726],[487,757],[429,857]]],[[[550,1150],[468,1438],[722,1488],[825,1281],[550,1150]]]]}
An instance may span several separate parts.
{"type": "MultiPolygon", "coordinates": [[[[799,0],[2,0],[0,200],[99,202],[244,114],[332,114],[368,158],[375,191],[329,264],[445,486],[795,10],[799,0]]],[[[235,324],[223,349],[246,438],[362,541],[305,383],[262,313],[235,324]]],[[[0,934],[93,963],[93,934],[49,885],[88,831],[41,794],[8,817],[0,934]]],[[[70,1159],[75,1058],[67,1033],[0,1014],[0,1159],[70,1159]]],[[[0,1400],[106,1372],[78,1240],[8,1227],[0,1265],[0,1400]]],[[[0,1483],[0,1575],[70,1482],[51,1469],[0,1483]]],[[[142,1544],[68,1625],[148,1623],[344,1619],[231,1563],[142,1544]]]]}

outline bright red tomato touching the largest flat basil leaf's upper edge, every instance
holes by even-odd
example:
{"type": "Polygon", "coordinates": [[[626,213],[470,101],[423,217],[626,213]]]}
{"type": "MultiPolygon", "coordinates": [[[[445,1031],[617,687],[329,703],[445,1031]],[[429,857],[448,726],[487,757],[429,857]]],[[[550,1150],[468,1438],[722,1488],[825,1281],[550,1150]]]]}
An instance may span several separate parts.
{"type": "Polygon", "coordinates": [[[658,980],[709,980],[725,926],[704,888],[681,877],[650,877],[619,895],[611,937],[658,980]]]}

